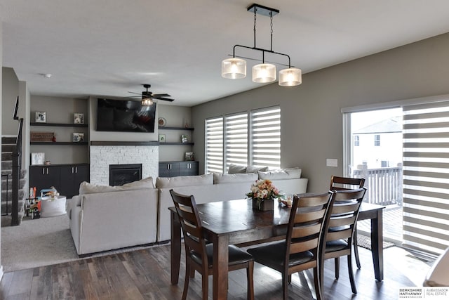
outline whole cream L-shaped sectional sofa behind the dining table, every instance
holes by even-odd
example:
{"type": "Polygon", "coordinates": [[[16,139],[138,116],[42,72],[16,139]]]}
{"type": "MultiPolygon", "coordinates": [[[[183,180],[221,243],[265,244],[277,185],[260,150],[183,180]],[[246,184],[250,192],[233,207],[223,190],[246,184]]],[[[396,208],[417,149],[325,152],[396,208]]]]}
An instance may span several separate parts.
{"type": "Polygon", "coordinates": [[[270,179],[283,193],[305,193],[307,178],[301,169],[255,173],[205,174],[200,176],[151,177],[122,186],[83,182],[79,195],[67,204],[70,230],[81,255],[170,240],[169,190],[194,195],[197,204],[245,198],[251,183],[270,179]]]}

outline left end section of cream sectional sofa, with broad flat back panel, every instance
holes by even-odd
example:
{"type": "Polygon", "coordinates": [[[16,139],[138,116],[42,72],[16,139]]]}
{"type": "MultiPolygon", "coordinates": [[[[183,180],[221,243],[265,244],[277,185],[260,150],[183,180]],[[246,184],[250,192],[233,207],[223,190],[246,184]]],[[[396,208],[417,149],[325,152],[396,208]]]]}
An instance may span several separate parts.
{"type": "Polygon", "coordinates": [[[157,197],[151,177],[114,187],[81,183],[67,205],[76,253],[156,242],[157,197]]]}

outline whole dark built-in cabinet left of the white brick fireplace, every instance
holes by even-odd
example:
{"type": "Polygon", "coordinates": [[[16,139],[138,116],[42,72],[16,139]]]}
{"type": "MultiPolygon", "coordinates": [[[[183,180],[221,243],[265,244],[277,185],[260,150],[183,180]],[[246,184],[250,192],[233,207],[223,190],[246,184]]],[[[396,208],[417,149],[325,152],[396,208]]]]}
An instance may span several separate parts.
{"type": "Polygon", "coordinates": [[[89,181],[89,164],[58,164],[29,167],[29,186],[40,190],[54,186],[60,195],[78,195],[79,184],[89,181]]]}

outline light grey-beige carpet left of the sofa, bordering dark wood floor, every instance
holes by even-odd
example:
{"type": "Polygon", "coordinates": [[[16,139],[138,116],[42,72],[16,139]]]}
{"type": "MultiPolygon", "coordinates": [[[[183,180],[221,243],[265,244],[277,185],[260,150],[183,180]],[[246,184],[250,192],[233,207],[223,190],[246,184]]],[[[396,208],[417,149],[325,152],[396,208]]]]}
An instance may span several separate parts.
{"type": "MultiPolygon", "coordinates": [[[[105,256],[156,246],[128,247],[88,257],[105,256]]],[[[84,257],[85,258],[85,257],[84,257]]],[[[23,219],[20,226],[1,228],[1,265],[4,272],[76,261],[67,215],[23,219]]]]}

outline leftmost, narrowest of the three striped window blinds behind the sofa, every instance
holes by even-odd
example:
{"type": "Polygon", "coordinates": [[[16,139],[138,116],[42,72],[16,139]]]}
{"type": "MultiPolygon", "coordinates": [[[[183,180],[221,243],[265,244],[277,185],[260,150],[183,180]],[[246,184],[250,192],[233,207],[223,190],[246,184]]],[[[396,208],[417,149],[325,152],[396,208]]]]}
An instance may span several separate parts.
{"type": "Polygon", "coordinates": [[[223,173],[223,118],[206,119],[206,174],[223,173]]]}

